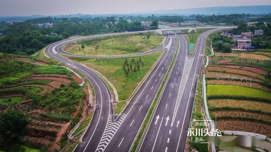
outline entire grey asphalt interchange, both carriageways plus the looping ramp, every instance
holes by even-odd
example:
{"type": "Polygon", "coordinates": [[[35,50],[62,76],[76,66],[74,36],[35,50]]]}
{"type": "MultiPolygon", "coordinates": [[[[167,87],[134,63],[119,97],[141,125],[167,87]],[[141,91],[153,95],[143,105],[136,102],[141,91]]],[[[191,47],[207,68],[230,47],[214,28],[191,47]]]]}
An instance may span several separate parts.
{"type": "MultiPolygon", "coordinates": [[[[200,35],[196,52],[192,58],[188,57],[188,41],[186,37],[180,32],[177,32],[177,34],[167,32],[164,40],[166,50],[161,60],[131,100],[123,114],[115,122],[113,121],[111,94],[103,80],[89,68],[59,55],[84,57],[84,55],[66,53],[61,49],[61,46],[71,41],[101,35],[71,38],[49,45],[45,50],[49,56],[82,72],[90,80],[95,90],[95,113],[83,137],[83,144],[79,145],[75,151],[129,151],[176,51],[178,51],[178,56],[165,86],[166,91],[163,92],[162,99],[158,103],[155,117],[152,118],[147,134],[140,145],[140,151],[183,151],[196,91],[196,80],[201,64],[204,40],[206,35],[212,31],[214,30],[200,35]],[[178,38],[180,39],[180,47],[179,50],[176,50],[178,38]],[[158,115],[159,118],[156,119],[158,115]],[[175,136],[168,134],[169,130],[175,136]]],[[[117,34],[120,33],[103,35],[117,34]]],[[[156,52],[161,49],[163,49],[162,46],[151,51],[156,52]]],[[[118,57],[138,55],[123,55],[118,57]]]]}

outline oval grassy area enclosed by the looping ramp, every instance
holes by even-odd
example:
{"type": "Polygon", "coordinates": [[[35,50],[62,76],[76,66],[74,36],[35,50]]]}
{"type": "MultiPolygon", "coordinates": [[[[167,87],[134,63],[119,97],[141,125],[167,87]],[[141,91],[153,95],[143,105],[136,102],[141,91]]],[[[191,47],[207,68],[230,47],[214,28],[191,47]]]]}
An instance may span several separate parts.
{"type": "MultiPolygon", "coordinates": [[[[164,36],[156,36],[151,33],[151,37],[148,40],[146,34],[130,34],[114,37],[102,37],[95,39],[88,39],[78,42],[67,52],[75,54],[85,55],[123,55],[146,52],[148,50],[158,47],[164,40],[164,36]],[[81,46],[84,44],[85,48],[81,46]],[[95,48],[98,46],[97,53],[95,48]]],[[[69,46],[68,44],[67,46],[69,46]]],[[[63,49],[66,49],[63,47],[63,49]]]]}

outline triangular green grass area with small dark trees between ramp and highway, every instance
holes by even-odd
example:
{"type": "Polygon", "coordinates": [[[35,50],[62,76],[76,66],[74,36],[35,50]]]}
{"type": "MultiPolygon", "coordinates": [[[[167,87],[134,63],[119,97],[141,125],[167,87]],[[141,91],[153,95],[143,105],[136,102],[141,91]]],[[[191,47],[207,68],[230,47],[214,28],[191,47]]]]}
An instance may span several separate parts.
{"type": "MultiPolygon", "coordinates": [[[[130,64],[131,57],[129,58],[110,58],[110,59],[89,59],[89,58],[74,58],[70,57],[71,60],[76,62],[82,62],[90,68],[93,68],[105,76],[116,88],[118,92],[119,100],[125,100],[130,97],[132,92],[136,89],[139,82],[143,79],[152,65],[155,63],[157,58],[161,55],[162,51],[152,53],[149,55],[134,57],[137,61],[139,58],[144,62],[144,67],[140,64],[140,70],[134,72],[130,71],[129,75],[126,76],[123,71],[123,64],[126,59],[130,64]],[[139,79],[138,79],[139,78],[139,79]]],[[[134,68],[134,66],[132,67],[134,68]]]]}

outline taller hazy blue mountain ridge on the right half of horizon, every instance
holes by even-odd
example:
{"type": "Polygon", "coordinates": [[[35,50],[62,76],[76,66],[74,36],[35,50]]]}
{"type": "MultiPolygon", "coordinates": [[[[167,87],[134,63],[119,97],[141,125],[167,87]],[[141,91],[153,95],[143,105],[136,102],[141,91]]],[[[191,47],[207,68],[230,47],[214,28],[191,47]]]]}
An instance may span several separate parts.
{"type": "Polygon", "coordinates": [[[202,7],[190,9],[158,10],[148,12],[137,12],[136,14],[268,14],[271,13],[271,5],[259,6],[220,6],[220,7],[202,7]]]}

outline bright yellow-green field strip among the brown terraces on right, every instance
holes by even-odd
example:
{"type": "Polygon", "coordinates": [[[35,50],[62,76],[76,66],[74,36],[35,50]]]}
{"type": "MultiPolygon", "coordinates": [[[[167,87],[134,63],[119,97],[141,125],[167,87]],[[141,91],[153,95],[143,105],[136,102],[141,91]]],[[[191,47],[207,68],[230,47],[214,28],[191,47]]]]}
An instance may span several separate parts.
{"type": "Polygon", "coordinates": [[[252,98],[271,99],[271,93],[248,87],[232,86],[232,85],[207,85],[207,95],[230,95],[230,96],[246,96],[252,98]]]}

